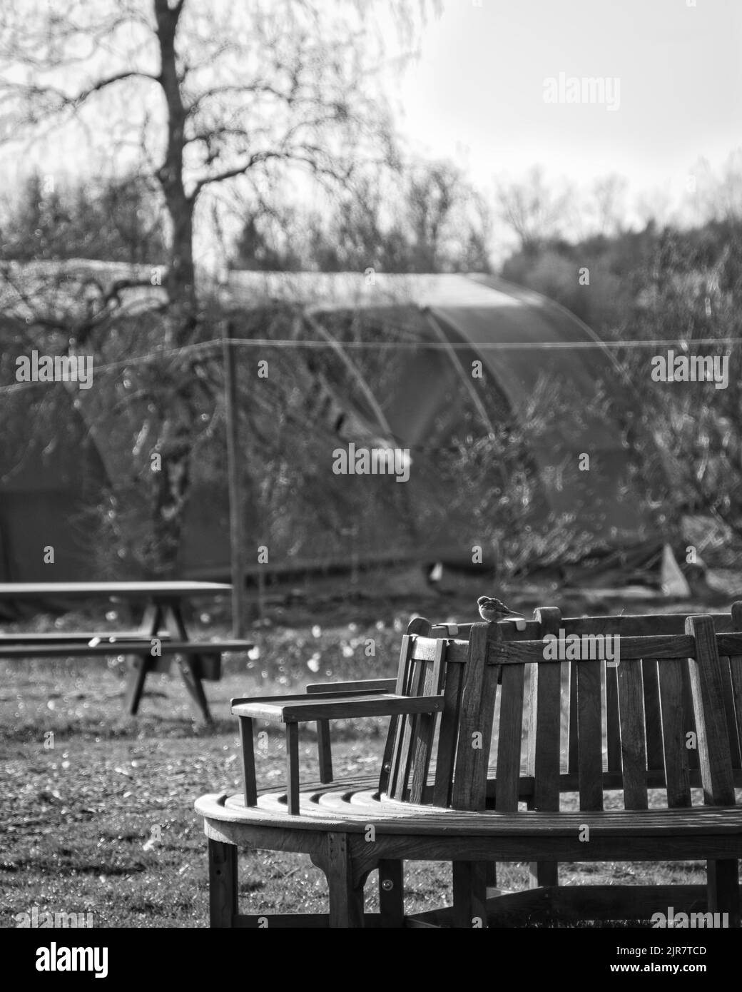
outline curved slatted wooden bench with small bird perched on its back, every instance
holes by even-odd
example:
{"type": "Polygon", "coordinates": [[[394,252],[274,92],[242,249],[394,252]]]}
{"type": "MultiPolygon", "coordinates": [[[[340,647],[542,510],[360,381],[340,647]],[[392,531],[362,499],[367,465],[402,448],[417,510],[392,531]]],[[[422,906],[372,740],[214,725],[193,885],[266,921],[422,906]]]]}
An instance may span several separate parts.
{"type": "MultiPolygon", "coordinates": [[[[534,914],[642,920],[674,907],[677,912],[727,913],[730,926],[738,927],[742,808],[735,806],[725,685],[731,685],[739,726],[742,634],[715,632],[708,616],[683,619],[683,633],[650,635],[635,633],[630,618],[613,619],[621,621],[618,667],[606,674],[604,662],[575,660],[566,682],[563,665],[544,657],[544,636],[565,624],[558,611],[540,611],[523,632],[500,623],[471,625],[468,641],[406,636],[395,686],[403,691],[397,694],[432,695],[440,678],[443,707],[439,716],[391,718],[376,789],[357,781],[318,784],[302,792],[299,814],[288,812],[283,792],[264,793],[256,805],[246,804],[244,796],[197,801],[209,838],[212,926],[265,926],[264,921],[282,927],[502,926],[534,914]],[[613,697],[608,689],[612,672],[617,722],[609,717],[612,704],[603,700],[603,685],[606,698],[613,697]],[[647,706],[653,713],[654,704],[649,693],[645,696],[645,683],[658,686],[659,768],[649,757],[655,727],[647,706]],[[562,702],[569,699],[574,718],[562,731],[562,702]],[[691,716],[693,731],[688,729],[691,716]],[[618,755],[617,771],[604,768],[609,726],[618,734],[618,751],[615,745],[609,749],[606,764],[618,755]],[[688,733],[696,734],[697,769],[688,760],[688,733]],[[658,772],[661,780],[656,781],[658,772]],[[609,788],[606,776],[613,777],[609,788]],[[693,805],[694,779],[703,806],[693,805]],[[650,808],[648,789],[656,785],[666,794],[665,808],[650,808]],[[619,806],[617,787],[624,808],[613,808],[619,806]],[[560,809],[560,794],[567,791],[576,793],[576,808],[560,809]],[[528,810],[519,808],[524,800],[528,810]],[[240,844],[308,853],[327,878],[329,914],[240,914],[240,844]],[[562,861],[669,857],[705,861],[707,885],[555,884],[556,864],[562,861]],[[451,862],[450,906],[405,915],[407,860],[451,862]],[[492,865],[498,861],[531,863],[533,888],[488,899],[492,865]],[[363,886],[375,869],[381,912],[372,916],[363,913],[363,886]]],[[[672,623],[677,627],[679,621],[672,623]]],[[[309,701],[300,696],[297,705],[303,698],[309,701]]],[[[314,717],[317,710],[304,712],[314,717]]]]}

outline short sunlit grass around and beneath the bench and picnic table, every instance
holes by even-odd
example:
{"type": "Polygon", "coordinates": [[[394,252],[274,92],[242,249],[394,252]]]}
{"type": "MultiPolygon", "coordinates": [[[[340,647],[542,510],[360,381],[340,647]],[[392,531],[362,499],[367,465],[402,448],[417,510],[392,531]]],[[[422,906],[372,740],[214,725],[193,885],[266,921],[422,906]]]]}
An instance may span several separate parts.
{"type": "MultiPolygon", "coordinates": [[[[424,605],[421,612],[435,619],[476,619],[464,604],[453,604],[452,615],[439,603],[424,605]]],[[[521,599],[520,605],[528,605],[529,615],[535,603],[521,599]]],[[[564,608],[564,615],[586,612],[579,605],[564,608]]],[[[608,605],[606,612],[703,612],[728,608],[729,601],[608,605]]],[[[126,673],[120,661],[3,663],[0,926],[19,926],[19,915],[34,908],[40,915],[89,912],[95,927],[207,926],[206,841],[193,801],[240,788],[237,722],[229,699],[301,690],[307,682],[392,676],[400,633],[411,615],[399,603],[306,604],[291,611],[289,625],[287,613],[277,611],[274,623],[248,632],[257,644],[253,656],[234,656],[221,682],[206,683],[215,717],[210,729],[193,720],[186,689],[175,677],[149,679],[140,714],[128,717],[122,712],[126,673]]],[[[196,626],[198,619],[197,636],[228,633],[215,613],[201,614],[196,626]]],[[[34,626],[45,629],[54,622],[43,617],[34,626]]],[[[109,626],[119,622],[108,615],[109,626]]],[[[65,616],[58,623],[92,629],[95,618],[65,616]]],[[[384,732],[382,719],[333,724],[336,774],[377,774],[384,732]]],[[[259,782],[282,782],[283,735],[270,733],[267,748],[257,754],[259,782]]],[[[315,778],[316,741],[309,727],[302,729],[302,759],[303,780],[315,778]]],[[[323,876],[306,858],[243,853],[240,866],[244,912],[326,910],[323,876]]],[[[560,881],[688,883],[702,882],[703,872],[700,864],[583,864],[564,866],[560,881]]],[[[448,866],[414,865],[406,882],[409,911],[449,900],[448,866]]],[[[499,867],[498,883],[527,884],[526,866],[499,867]]],[[[368,909],[377,905],[375,888],[372,875],[368,909]]]]}

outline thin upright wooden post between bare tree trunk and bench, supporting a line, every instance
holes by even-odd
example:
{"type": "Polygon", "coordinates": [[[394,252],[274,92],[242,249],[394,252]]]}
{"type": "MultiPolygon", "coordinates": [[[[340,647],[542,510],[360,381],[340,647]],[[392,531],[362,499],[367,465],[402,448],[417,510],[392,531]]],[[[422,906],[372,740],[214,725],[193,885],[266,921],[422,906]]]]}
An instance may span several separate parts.
{"type": "Polygon", "coordinates": [[[232,637],[245,636],[245,536],[242,527],[241,460],[239,450],[237,377],[232,345],[231,324],[222,324],[224,361],[224,424],[227,435],[227,474],[229,482],[229,549],[232,574],[232,637]]]}

